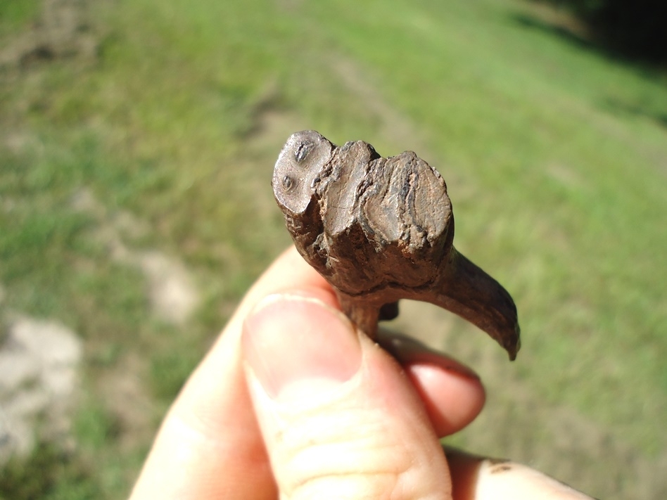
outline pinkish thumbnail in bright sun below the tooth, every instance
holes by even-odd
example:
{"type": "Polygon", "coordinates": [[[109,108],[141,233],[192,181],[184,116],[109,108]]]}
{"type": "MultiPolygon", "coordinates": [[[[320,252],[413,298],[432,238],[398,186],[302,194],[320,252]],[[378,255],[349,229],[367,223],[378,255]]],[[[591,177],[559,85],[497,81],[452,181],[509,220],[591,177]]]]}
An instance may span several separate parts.
{"type": "Polygon", "coordinates": [[[352,323],[311,297],[269,295],[246,319],[242,342],[247,366],[274,399],[321,393],[349,380],[361,365],[352,323]]]}

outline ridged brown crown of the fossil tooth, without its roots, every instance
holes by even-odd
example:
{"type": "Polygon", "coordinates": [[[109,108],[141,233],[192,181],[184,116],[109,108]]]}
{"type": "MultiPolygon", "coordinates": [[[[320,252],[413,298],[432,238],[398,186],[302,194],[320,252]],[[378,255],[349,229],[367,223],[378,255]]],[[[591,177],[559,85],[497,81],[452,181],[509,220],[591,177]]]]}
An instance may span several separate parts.
{"type": "Polygon", "coordinates": [[[273,186],[304,257],[350,295],[425,286],[450,250],[447,186],[412,151],[381,158],[362,141],[338,148],[317,132],[297,132],[273,186]]]}

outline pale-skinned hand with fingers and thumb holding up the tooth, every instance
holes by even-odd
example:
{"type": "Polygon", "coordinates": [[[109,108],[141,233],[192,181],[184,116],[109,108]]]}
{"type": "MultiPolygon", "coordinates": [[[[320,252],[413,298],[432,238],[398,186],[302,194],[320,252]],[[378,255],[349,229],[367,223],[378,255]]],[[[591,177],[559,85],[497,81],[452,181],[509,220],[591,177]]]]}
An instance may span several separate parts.
{"type": "Polygon", "coordinates": [[[590,498],[516,463],[443,453],[438,439],[482,409],[479,378],[407,338],[380,344],[393,356],[290,248],[172,404],[131,500],[590,498]]]}

